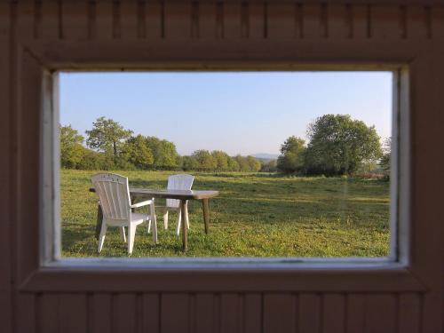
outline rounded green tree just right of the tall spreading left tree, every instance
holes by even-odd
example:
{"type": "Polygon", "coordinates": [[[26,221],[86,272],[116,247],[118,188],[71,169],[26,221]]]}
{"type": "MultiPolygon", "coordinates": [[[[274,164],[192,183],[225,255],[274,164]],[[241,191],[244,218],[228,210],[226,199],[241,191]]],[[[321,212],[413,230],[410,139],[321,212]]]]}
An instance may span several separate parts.
{"type": "Polygon", "coordinates": [[[123,145],[123,156],[126,161],[139,169],[147,170],[153,166],[155,158],[142,135],[127,139],[123,145]]]}

